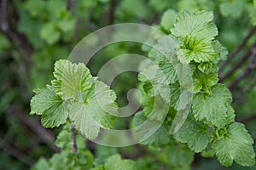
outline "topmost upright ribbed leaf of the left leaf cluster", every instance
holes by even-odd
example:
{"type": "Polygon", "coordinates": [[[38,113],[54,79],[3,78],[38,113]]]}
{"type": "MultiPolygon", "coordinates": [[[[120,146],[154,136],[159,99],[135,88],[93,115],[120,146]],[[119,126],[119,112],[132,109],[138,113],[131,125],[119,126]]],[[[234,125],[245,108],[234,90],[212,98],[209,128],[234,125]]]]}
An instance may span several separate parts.
{"type": "Polygon", "coordinates": [[[55,62],[55,80],[52,85],[56,94],[62,99],[79,99],[81,92],[89,89],[92,84],[92,77],[89,69],[83,64],[73,64],[67,59],[60,59],[55,62]]]}

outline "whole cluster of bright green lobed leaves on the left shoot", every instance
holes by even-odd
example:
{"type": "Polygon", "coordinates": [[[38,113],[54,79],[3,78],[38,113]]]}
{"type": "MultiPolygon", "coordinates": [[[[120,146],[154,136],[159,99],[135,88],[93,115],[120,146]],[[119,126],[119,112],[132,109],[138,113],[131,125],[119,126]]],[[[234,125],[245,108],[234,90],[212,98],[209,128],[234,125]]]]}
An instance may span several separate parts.
{"type": "Polygon", "coordinates": [[[31,100],[31,114],[42,115],[44,127],[59,127],[70,119],[80,133],[95,139],[100,127],[111,128],[117,114],[116,98],[82,63],[61,59],[55,63],[51,86],[39,89],[31,100]]]}

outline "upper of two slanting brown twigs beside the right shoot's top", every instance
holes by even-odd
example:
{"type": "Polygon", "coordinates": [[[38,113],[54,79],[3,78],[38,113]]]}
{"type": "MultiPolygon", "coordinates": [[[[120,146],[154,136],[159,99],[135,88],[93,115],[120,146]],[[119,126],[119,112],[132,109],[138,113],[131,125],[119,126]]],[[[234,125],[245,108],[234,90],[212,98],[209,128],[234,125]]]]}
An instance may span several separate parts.
{"type": "Polygon", "coordinates": [[[247,37],[244,38],[244,40],[241,42],[241,44],[233,51],[229,54],[228,58],[224,61],[224,63],[219,67],[219,71],[223,71],[224,67],[230,62],[231,59],[233,59],[236,54],[238,54],[241,49],[247,44],[247,41],[250,39],[250,37],[253,36],[253,34],[256,31],[256,27],[253,27],[253,29],[251,29],[248,34],[247,37]]]}

